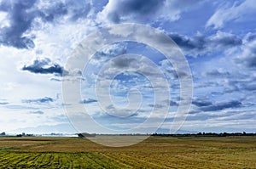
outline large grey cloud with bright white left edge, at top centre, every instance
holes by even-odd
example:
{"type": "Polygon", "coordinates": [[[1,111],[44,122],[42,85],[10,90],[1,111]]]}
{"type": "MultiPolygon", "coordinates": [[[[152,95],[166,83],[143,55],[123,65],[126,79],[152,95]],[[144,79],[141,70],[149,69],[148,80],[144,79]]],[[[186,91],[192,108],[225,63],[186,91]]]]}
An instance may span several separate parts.
{"type": "Polygon", "coordinates": [[[107,19],[112,23],[173,21],[178,20],[181,13],[189,8],[199,6],[200,3],[202,2],[195,0],[110,0],[102,12],[98,14],[98,19],[102,21],[107,19]]]}

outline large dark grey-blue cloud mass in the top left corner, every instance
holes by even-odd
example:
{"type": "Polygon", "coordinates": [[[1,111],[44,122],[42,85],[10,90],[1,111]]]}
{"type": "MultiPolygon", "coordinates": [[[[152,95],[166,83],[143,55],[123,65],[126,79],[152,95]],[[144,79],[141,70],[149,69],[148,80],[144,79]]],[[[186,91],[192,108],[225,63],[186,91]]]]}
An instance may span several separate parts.
{"type": "Polygon", "coordinates": [[[75,21],[87,16],[90,11],[90,3],[85,1],[61,1],[52,2],[50,6],[41,5],[38,8],[38,0],[2,1],[0,11],[8,13],[9,26],[0,30],[0,44],[15,48],[34,48],[32,37],[24,34],[33,29],[35,19],[40,18],[44,22],[60,20],[62,16],[69,14],[70,20],[75,21]]]}

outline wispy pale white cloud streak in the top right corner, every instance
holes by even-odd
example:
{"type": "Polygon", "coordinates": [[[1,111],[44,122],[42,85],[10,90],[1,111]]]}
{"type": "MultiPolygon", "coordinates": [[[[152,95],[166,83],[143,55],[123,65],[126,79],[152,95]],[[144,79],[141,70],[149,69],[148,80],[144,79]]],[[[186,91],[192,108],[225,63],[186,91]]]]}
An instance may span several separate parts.
{"type": "Polygon", "coordinates": [[[224,3],[207,21],[207,27],[213,26],[214,29],[222,28],[229,21],[245,20],[248,15],[255,15],[256,5],[253,0],[246,0],[242,3],[224,3]]]}

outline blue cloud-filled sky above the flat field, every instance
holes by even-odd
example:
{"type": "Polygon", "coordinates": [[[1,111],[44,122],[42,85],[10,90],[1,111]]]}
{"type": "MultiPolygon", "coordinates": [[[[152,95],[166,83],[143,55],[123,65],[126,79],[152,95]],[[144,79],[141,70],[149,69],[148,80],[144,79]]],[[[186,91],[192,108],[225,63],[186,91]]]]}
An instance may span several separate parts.
{"type": "Polygon", "coordinates": [[[0,0],[0,132],[169,132],[177,115],[180,132],[256,132],[255,15],[253,0],[0,0]],[[122,24],[137,41],[111,40],[122,24]]]}

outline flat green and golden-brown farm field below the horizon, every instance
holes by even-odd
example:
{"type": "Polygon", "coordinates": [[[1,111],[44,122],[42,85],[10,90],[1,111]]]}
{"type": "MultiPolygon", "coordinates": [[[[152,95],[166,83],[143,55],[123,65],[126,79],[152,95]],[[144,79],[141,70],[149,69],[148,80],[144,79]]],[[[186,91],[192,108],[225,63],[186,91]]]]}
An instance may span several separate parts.
{"type": "Polygon", "coordinates": [[[86,138],[1,137],[0,168],[256,168],[256,137],[150,137],[121,148],[86,138]]]}

